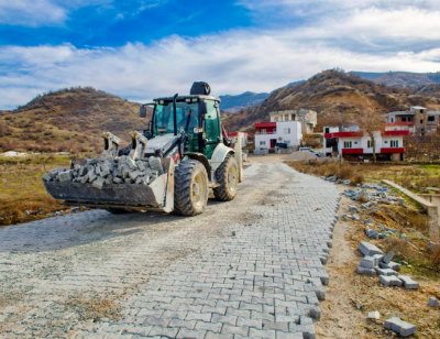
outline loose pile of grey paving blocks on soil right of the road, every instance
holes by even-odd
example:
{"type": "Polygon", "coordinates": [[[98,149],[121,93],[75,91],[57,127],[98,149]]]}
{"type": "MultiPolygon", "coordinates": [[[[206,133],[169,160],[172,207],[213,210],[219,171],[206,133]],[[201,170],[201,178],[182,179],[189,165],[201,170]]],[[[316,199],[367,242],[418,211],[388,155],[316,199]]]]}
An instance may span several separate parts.
{"type": "Polygon", "coordinates": [[[419,283],[410,276],[399,275],[396,272],[400,270],[402,265],[392,261],[393,251],[385,255],[377,247],[366,241],[359,243],[359,250],[365,255],[361,258],[360,265],[356,266],[359,274],[378,275],[378,280],[385,286],[404,286],[407,289],[419,288],[419,283]]]}

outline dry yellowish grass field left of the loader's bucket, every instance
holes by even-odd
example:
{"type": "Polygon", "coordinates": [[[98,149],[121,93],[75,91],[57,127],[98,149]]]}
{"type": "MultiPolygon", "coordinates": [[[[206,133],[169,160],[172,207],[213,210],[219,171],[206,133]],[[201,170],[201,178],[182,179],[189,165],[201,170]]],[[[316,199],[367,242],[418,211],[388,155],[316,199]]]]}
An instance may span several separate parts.
{"type": "Polygon", "coordinates": [[[65,209],[46,193],[42,175],[56,167],[68,167],[70,161],[63,156],[0,157],[0,227],[43,219],[47,217],[46,214],[65,209]]]}

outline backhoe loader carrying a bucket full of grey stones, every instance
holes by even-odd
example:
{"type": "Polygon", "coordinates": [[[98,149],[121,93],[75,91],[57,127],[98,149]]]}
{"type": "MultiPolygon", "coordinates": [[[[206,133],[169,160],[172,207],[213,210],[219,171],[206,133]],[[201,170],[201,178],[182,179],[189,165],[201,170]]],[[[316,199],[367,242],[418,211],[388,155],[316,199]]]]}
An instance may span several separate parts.
{"type": "Polygon", "coordinates": [[[147,129],[130,133],[132,142],[103,133],[100,158],[73,158],[70,168],[43,176],[46,190],[68,206],[201,214],[209,188],[218,200],[232,200],[242,181],[241,138],[227,139],[220,99],[207,83],[194,83],[189,96],[164,97],[144,103],[152,119],[147,129]]]}

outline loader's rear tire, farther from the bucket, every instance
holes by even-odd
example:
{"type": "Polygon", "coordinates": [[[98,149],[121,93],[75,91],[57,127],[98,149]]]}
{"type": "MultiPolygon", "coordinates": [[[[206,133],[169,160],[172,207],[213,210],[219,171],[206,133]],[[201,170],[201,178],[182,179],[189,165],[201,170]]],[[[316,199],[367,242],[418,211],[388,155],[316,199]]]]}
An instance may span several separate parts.
{"type": "Polygon", "coordinates": [[[213,196],[217,200],[230,201],[237,196],[239,188],[239,164],[231,154],[216,171],[217,183],[220,185],[213,188],[213,196]]]}

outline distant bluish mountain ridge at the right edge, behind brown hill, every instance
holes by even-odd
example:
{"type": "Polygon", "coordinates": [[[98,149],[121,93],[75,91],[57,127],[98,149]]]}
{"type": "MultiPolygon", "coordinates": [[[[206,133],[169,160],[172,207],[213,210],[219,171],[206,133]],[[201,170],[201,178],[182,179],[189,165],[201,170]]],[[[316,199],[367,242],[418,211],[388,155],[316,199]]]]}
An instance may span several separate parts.
{"type": "Polygon", "coordinates": [[[350,72],[363,79],[373,80],[376,84],[388,86],[399,86],[415,88],[428,84],[440,83],[440,72],[437,73],[410,73],[410,72],[387,72],[387,73],[367,73],[350,72]]]}

